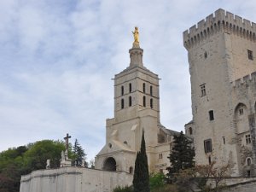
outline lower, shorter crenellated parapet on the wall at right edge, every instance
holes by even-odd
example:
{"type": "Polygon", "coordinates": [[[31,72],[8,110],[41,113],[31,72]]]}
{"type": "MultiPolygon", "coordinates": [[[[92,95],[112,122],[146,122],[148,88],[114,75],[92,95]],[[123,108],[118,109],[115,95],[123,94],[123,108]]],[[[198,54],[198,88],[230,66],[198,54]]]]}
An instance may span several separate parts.
{"type": "Polygon", "coordinates": [[[250,73],[244,77],[242,77],[241,79],[236,79],[233,82],[230,82],[230,84],[232,85],[232,87],[234,89],[240,89],[243,86],[255,86],[256,84],[256,72],[250,73]]]}

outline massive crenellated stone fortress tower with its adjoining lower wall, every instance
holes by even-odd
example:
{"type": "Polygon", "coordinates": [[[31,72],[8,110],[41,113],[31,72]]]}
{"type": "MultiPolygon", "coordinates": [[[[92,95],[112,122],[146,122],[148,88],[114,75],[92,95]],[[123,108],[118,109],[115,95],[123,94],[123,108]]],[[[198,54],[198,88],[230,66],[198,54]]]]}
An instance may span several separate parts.
{"type": "Polygon", "coordinates": [[[197,164],[234,163],[255,176],[256,25],[218,9],[183,32],[188,50],[197,164]]]}

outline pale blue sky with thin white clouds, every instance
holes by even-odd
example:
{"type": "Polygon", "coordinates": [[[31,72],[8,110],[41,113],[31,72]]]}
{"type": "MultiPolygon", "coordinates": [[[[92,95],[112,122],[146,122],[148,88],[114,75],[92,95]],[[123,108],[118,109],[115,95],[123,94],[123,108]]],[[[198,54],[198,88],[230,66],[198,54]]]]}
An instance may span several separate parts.
{"type": "Polygon", "coordinates": [[[134,26],[144,66],[161,79],[161,123],[183,131],[192,119],[183,31],[219,8],[256,22],[254,0],[0,0],[0,151],[69,133],[93,159],[134,26]]]}

